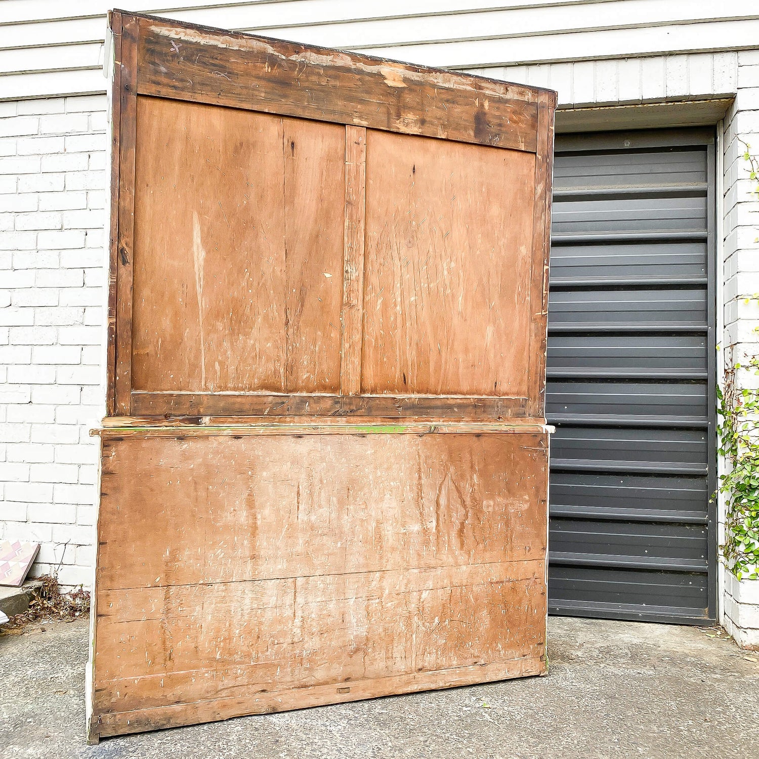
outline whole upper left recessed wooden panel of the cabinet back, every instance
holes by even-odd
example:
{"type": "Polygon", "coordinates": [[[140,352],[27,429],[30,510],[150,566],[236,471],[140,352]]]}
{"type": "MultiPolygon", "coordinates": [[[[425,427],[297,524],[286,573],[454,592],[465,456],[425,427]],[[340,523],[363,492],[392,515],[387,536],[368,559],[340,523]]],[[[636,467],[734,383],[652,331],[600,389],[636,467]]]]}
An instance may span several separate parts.
{"type": "Polygon", "coordinates": [[[134,388],[336,392],[344,130],[143,97],[138,116],[134,388]]]}

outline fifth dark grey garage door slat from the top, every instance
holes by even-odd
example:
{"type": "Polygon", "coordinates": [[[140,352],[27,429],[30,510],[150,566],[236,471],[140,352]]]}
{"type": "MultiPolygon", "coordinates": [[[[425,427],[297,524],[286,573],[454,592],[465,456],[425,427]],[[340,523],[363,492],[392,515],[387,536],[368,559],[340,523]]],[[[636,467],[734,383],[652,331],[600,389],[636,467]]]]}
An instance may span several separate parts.
{"type": "Polygon", "coordinates": [[[548,376],[703,376],[704,335],[567,335],[548,341],[548,376]]]}

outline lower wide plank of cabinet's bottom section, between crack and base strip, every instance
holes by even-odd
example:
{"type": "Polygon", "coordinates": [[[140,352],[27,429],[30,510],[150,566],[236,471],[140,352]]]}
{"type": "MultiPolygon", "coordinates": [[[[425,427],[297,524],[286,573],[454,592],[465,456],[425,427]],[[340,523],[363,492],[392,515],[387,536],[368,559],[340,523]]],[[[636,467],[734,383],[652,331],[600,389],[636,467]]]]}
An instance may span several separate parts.
{"type": "Polygon", "coordinates": [[[106,591],[95,712],[540,657],[543,568],[534,562],[530,578],[512,579],[522,568],[106,591]]]}

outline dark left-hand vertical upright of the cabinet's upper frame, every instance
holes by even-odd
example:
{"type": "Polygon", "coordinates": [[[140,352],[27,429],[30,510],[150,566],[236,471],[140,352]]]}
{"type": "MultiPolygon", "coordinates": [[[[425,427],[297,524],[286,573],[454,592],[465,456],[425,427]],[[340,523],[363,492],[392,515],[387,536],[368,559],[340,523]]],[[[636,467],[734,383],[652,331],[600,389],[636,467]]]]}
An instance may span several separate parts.
{"type": "Polygon", "coordinates": [[[131,413],[134,162],[137,142],[137,18],[121,19],[118,235],[116,250],[115,407],[131,413]]]}

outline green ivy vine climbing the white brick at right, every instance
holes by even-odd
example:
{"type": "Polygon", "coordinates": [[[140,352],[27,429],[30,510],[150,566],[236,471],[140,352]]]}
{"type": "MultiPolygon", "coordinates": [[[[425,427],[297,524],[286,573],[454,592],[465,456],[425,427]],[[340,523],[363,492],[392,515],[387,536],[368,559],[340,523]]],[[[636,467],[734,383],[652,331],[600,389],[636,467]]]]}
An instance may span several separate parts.
{"type": "MultiPolygon", "coordinates": [[[[742,140],[740,140],[742,142],[742,140]]],[[[750,167],[752,192],[759,197],[759,163],[743,143],[743,158],[750,167]]],[[[759,296],[744,298],[745,303],[759,296]]],[[[759,374],[759,356],[748,359],[748,367],[759,374]]],[[[725,496],[725,543],[723,559],[739,580],[759,579],[759,390],[739,388],[736,373],[741,364],[733,363],[732,350],[726,355],[723,388],[717,388],[717,435],[719,452],[724,456],[727,474],[720,477],[719,490],[725,496]]]]}

